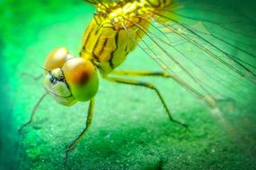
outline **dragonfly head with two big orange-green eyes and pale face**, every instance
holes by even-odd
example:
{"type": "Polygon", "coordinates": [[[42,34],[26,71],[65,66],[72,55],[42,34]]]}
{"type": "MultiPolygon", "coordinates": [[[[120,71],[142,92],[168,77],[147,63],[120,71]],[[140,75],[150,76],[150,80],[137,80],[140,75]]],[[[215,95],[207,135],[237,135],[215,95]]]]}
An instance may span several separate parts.
{"type": "Polygon", "coordinates": [[[58,103],[72,106],[98,91],[98,73],[91,61],[74,57],[65,47],[52,51],[44,64],[44,86],[58,103]]]}

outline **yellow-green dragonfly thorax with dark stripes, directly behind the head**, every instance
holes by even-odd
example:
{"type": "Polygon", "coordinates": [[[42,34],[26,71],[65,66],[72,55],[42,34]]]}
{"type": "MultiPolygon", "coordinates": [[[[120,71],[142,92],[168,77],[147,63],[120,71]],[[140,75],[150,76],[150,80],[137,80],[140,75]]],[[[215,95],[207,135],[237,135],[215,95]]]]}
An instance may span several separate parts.
{"type": "Polygon", "coordinates": [[[148,17],[142,19],[143,15],[135,17],[135,13],[126,19],[117,11],[119,9],[111,13],[96,13],[84,34],[81,56],[91,60],[103,77],[125,61],[128,53],[144,37],[151,21],[148,17]],[[115,14],[118,16],[114,17],[115,14]]]}

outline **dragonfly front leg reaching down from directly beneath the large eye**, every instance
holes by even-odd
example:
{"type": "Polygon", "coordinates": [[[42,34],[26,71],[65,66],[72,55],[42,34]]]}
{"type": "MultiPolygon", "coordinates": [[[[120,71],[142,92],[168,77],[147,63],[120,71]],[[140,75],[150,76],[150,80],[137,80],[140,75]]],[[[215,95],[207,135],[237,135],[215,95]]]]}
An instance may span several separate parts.
{"type": "Polygon", "coordinates": [[[89,109],[88,109],[88,115],[87,115],[87,120],[86,120],[86,124],[85,124],[85,128],[83,130],[83,132],[81,132],[76,138],[75,140],[66,148],[66,157],[65,157],[65,165],[67,164],[67,159],[68,159],[68,154],[69,152],[74,149],[75,145],[84,138],[84,135],[86,134],[86,132],[88,132],[91,124],[92,124],[92,120],[93,120],[93,108],[94,108],[94,102],[95,99],[93,98],[90,101],[90,105],[89,105],[89,109]]]}

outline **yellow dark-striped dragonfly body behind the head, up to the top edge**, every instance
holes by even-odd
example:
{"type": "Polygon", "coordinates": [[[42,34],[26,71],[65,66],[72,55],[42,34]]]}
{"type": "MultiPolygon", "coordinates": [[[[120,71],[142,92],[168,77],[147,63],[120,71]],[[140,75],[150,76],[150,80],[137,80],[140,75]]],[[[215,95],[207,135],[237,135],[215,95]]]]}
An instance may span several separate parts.
{"type": "Polygon", "coordinates": [[[152,12],[169,4],[171,1],[155,0],[98,4],[80,55],[93,61],[102,76],[106,76],[137,47],[152,21],[152,12]]]}

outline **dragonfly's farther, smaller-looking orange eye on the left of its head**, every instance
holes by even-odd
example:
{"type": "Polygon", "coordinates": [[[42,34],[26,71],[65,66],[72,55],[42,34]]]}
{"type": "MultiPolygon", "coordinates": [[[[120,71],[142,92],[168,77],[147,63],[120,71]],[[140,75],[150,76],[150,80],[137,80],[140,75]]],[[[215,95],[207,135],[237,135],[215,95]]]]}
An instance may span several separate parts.
{"type": "Polygon", "coordinates": [[[47,56],[44,63],[44,68],[48,71],[61,68],[66,63],[66,60],[72,57],[74,56],[69,55],[66,47],[58,47],[47,56]]]}

